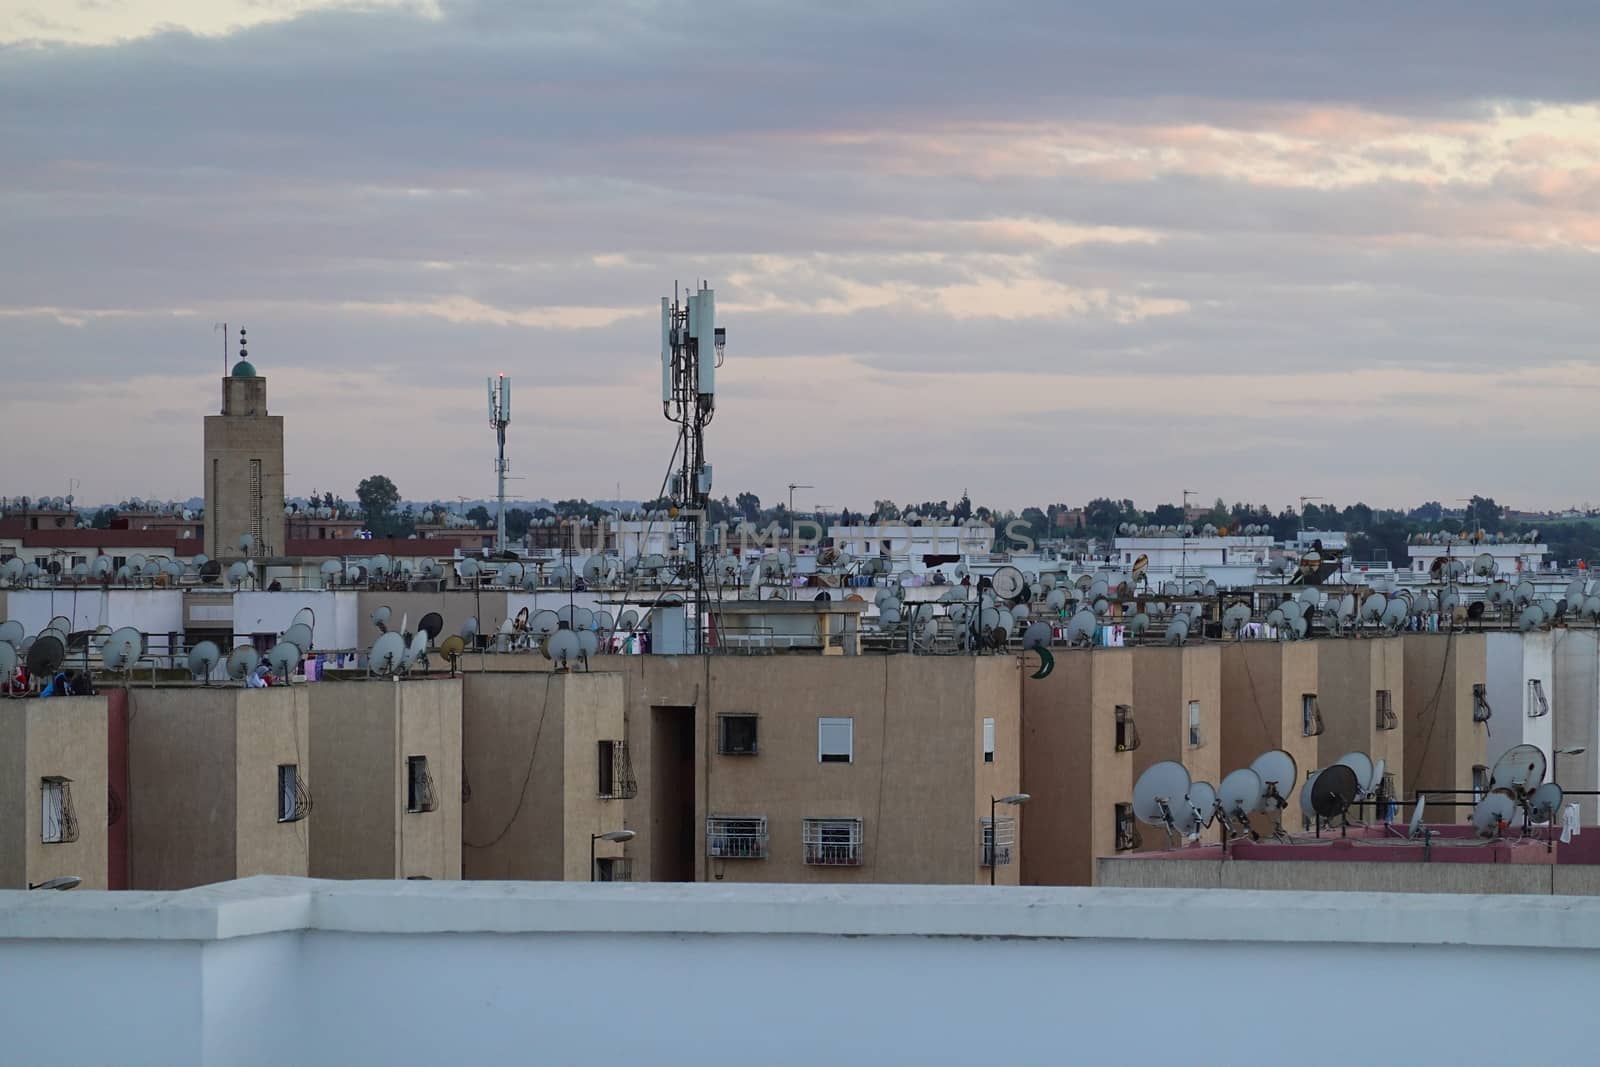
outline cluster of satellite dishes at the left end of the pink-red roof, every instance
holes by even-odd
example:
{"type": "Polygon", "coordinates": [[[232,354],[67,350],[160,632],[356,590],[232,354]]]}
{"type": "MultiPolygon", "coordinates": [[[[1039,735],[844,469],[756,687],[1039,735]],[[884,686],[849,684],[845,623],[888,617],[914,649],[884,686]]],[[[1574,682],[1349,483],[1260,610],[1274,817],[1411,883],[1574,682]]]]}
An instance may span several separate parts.
{"type": "MultiPolygon", "coordinates": [[[[1299,784],[1306,825],[1320,833],[1334,819],[1347,825],[1350,808],[1360,801],[1382,805],[1394,800],[1386,795],[1386,769],[1384,760],[1373,763],[1365,752],[1349,752],[1307,774],[1299,784]]],[[[1213,824],[1219,827],[1224,845],[1235,838],[1259,840],[1251,825],[1256,814],[1270,817],[1274,838],[1288,840],[1283,813],[1294,798],[1298,773],[1294,757],[1282,749],[1261,753],[1218,785],[1195,782],[1182,763],[1166,760],[1147,768],[1134,782],[1133,814],[1147,825],[1162,827],[1168,846],[1198,841],[1213,824]]]]}

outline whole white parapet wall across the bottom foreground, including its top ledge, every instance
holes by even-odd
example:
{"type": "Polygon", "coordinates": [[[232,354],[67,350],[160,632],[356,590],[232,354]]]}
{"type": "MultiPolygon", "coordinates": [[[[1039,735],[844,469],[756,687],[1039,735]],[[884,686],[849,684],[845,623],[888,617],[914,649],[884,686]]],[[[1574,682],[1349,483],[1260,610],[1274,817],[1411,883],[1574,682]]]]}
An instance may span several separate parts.
{"type": "Polygon", "coordinates": [[[0,1062],[1474,1064],[1482,976],[1538,974],[1541,1061],[1584,1064],[1597,966],[1600,899],[1576,896],[0,893],[0,1062]],[[1363,1006],[1363,987],[1382,997],[1363,1006]]]}

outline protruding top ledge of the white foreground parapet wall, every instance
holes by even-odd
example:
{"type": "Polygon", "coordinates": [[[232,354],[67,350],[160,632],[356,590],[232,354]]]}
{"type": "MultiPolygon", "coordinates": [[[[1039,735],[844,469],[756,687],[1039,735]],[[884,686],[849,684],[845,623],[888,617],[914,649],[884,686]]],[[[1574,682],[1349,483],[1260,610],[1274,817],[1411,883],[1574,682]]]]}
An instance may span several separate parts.
{"type": "Polygon", "coordinates": [[[178,893],[0,893],[0,939],[221,941],[301,929],[1600,949],[1600,899],[1246,889],[306,878],[246,878],[178,893]]]}

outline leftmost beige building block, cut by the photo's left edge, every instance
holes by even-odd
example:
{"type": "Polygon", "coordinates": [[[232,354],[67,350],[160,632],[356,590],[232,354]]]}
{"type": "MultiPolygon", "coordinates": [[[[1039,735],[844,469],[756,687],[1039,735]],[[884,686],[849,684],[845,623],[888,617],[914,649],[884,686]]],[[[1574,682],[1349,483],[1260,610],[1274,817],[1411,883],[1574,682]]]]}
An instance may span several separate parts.
{"type": "Polygon", "coordinates": [[[0,889],[106,888],[106,697],[0,701],[0,889]]]}

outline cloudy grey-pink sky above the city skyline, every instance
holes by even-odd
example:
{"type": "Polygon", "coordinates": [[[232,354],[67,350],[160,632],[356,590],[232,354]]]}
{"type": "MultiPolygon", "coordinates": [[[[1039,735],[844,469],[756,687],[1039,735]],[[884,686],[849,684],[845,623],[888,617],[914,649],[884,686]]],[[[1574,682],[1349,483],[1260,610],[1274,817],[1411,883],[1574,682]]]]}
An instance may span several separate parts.
{"type": "Polygon", "coordinates": [[[3,494],[1600,499],[1600,5],[0,0],[3,494]]]}

